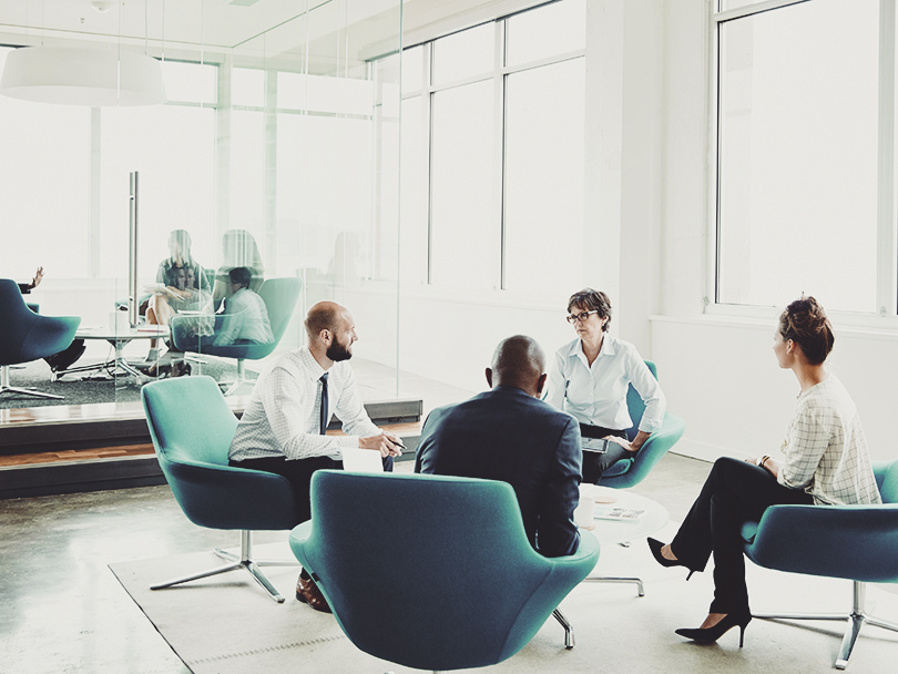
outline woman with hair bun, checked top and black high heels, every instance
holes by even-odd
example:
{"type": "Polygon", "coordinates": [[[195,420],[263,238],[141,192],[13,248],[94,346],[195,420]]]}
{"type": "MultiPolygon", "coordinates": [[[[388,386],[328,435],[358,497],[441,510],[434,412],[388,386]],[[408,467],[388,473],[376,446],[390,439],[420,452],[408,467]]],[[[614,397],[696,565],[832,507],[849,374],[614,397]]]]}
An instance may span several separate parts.
{"type": "Polygon", "coordinates": [[[857,407],[824,365],[834,341],[829,319],[813,297],[786,307],[773,350],[802,390],[780,447],[783,459],[717,459],[671,544],[649,539],[662,566],[685,566],[690,576],[714,556],[708,615],[701,627],[676,630],[681,636],[714,642],[738,625],[742,646],[752,613],[741,530],[768,507],[881,503],[857,407]]]}

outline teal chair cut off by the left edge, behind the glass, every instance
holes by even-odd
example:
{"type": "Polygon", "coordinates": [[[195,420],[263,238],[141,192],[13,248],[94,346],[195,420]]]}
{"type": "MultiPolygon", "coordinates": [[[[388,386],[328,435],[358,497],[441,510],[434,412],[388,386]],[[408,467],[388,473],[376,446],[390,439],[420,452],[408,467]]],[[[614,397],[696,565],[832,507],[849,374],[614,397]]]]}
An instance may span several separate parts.
{"type": "Polygon", "coordinates": [[[81,318],[41,316],[25,305],[14,280],[0,278],[0,365],[19,365],[68,348],[81,318]]]}

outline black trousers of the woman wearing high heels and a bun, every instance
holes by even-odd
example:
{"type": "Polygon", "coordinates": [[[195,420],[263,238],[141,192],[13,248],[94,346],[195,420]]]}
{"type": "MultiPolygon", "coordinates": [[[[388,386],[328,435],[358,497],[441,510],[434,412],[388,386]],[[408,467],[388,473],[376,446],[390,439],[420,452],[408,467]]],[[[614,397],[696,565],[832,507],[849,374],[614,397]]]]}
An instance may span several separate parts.
{"type": "Polygon", "coordinates": [[[814,499],[804,490],[783,487],[768,470],[754,463],[727,457],[714,462],[702,492],[671,542],[676,558],[696,571],[703,571],[714,555],[710,613],[749,612],[742,525],[758,521],[767,508],[780,503],[812,504],[814,499]]]}

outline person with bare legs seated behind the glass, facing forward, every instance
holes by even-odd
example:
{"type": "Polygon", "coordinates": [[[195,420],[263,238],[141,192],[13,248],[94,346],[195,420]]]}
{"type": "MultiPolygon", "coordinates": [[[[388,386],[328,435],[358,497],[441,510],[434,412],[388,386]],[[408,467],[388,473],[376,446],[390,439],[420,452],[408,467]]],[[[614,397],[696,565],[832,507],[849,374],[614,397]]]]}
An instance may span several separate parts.
{"type": "MultiPolygon", "coordinates": [[[[196,310],[202,309],[201,305],[204,302],[207,303],[207,297],[203,297],[202,293],[208,293],[208,282],[203,274],[203,268],[191,255],[190,233],[186,229],[174,229],[169,234],[169,257],[163,259],[156,269],[156,290],[150,297],[146,323],[169,325],[172,316],[178,310],[188,307],[196,310]],[[193,284],[187,285],[191,277],[200,293],[187,289],[193,286],[193,284]]],[[[151,339],[146,361],[153,362],[157,358],[156,340],[151,339]]]]}

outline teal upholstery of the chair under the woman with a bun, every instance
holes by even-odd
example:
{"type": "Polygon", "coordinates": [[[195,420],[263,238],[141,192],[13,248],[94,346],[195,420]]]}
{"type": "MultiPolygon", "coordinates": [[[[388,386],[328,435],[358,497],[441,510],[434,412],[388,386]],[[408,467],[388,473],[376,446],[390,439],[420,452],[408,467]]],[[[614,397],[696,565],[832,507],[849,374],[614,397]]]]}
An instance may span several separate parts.
{"type": "Polygon", "coordinates": [[[773,506],[743,528],[745,554],[779,571],[898,582],[898,460],[874,472],[885,503],[773,506]]]}

